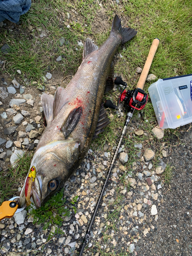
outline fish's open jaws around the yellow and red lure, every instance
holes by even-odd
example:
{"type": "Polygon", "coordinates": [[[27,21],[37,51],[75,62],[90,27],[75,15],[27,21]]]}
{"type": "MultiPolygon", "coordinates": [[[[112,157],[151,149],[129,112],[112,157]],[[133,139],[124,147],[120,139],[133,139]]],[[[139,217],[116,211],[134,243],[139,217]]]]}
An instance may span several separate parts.
{"type": "MultiPolygon", "coordinates": [[[[26,204],[28,200],[26,200],[26,191],[28,192],[29,187],[27,187],[27,178],[25,180],[25,184],[22,188],[22,191],[20,192],[20,198],[19,198],[19,207],[22,208],[26,204]]],[[[30,198],[33,198],[33,202],[35,204],[36,208],[39,208],[41,206],[41,190],[42,190],[42,179],[39,175],[35,177],[34,182],[32,183],[32,188],[30,193],[30,198]]]]}

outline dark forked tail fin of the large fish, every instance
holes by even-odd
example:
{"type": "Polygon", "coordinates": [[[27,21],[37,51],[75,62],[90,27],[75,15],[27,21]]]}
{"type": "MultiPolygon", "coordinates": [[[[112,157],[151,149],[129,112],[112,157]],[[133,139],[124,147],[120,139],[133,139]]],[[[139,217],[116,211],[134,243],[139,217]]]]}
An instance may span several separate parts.
{"type": "Polygon", "coordinates": [[[131,40],[137,34],[137,31],[131,28],[123,29],[121,27],[121,19],[116,14],[113,19],[111,34],[118,34],[121,37],[121,43],[124,44],[125,42],[131,40]]]}

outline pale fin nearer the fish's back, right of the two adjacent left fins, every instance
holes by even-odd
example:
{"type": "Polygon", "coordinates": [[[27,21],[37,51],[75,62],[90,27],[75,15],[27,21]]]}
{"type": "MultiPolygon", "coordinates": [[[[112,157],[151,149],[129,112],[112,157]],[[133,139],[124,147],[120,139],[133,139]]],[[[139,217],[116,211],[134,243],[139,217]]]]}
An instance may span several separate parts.
{"type": "Polygon", "coordinates": [[[55,93],[54,103],[53,103],[53,119],[58,115],[62,107],[68,102],[68,94],[62,88],[57,88],[55,93]]]}

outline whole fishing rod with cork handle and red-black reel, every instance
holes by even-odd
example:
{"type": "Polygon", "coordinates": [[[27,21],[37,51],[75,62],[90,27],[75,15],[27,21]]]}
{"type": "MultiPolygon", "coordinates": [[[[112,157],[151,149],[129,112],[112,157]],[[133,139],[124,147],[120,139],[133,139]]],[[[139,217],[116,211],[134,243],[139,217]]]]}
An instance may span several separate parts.
{"type": "Polygon", "coordinates": [[[83,239],[83,242],[82,242],[82,246],[81,246],[81,250],[79,252],[79,256],[82,256],[82,253],[84,251],[84,247],[86,247],[86,244],[90,240],[90,232],[91,232],[93,223],[95,221],[95,217],[96,217],[96,214],[97,214],[100,202],[102,200],[105,188],[106,188],[106,186],[108,184],[108,180],[109,180],[109,178],[111,176],[112,168],[113,168],[113,165],[114,165],[115,160],[117,158],[117,154],[119,152],[119,148],[120,148],[122,139],[123,139],[123,137],[124,137],[124,135],[126,133],[127,126],[130,123],[130,120],[131,120],[131,118],[133,116],[133,113],[134,113],[135,109],[136,110],[142,110],[144,108],[146,102],[147,102],[148,95],[143,91],[143,87],[144,87],[144,83],[145,83],[146,77],[148,75],[148,71],[150,70],[150,67],[152,65],[152,61],[153,61],[153,58],[154,58],[155,53],[157,51],[158,45],[159,45],[159,39],[155,38],[153,40],[153,42],[152,42],[152,46],[150,48],[150,52],[148,53],[148,56],[147,56],[144,68],[142,70],[142,73],[141,73],[141,76],[139,78],[139,81],[137,83],[136,88],[134,90],[127,90],[126,91],[125,88],[127,87],[127,83],[122,81],[122,79],[120,77],[116,77],[116,79],[114,81],[115,84],[124,86],[124,89],[121,91],[121,93],[119,95],[117,106],[114,105],[111,100],[107,100],[105,102],[105,104],[104,104],[105,108],[111,108],[111,109],[115,109],[116,110],[116,109],[118,109],[119,103],[124,101],[124,105],[126,106],[128,112],[126,114],[126,121],[124,123],[123,131],[122,131],[122,134],[121,134],[121,137],[120,137],[120,140],[119,140],[119,143],[118,143],[118,146],[117,146],[117,149],[116,149],[113,161],[111,163],[110,170],[108,172],[108,175],[106,176],[106,180],[104,182],[104,185],[102,187],[101,193],[99,195],[99,199],[98,199],[96,207],[94,209],[94,212],[93,212],[93,215],[92,215],[92,218],[91,218],[91,222],[89,224],[89,227],[88,227],[88,230],[86,232],[86,235],[84,236],[84,239],[83,239]]]}

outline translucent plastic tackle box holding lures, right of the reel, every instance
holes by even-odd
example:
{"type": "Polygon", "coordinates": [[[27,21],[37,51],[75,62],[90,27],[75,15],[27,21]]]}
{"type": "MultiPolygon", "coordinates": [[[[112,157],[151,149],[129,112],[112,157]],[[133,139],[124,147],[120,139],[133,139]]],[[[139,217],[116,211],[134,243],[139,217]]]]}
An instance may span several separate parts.
{"type": "Polygon", "coordinates": [[[192,122],[192,74],[159,79],[148,92],[161,129],[192,122]]]}

